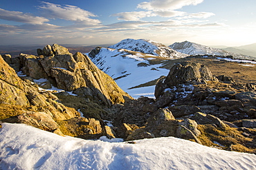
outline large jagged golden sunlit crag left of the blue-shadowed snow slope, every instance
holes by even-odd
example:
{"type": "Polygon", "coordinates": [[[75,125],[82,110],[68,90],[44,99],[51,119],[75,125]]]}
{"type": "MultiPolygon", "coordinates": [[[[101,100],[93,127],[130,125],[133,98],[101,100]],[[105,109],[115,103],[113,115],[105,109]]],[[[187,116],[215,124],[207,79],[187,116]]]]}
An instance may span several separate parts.
{"type": "MultiPolygon", "coordinates": [[[[73,55],[57,44],[46,45],[37,52],[40,56],[20,55],[22,70],[27,76],[35,79],[52,78],[58,88],[66,91],[87,87],[89,95],[102,100],[105,105],[123,103],[123,96],[131,98],[110,76],[99,70],[88,56],[80,52],[73,55]]],[[[77,92],[81,94],[81,91],[77,92]]]]}

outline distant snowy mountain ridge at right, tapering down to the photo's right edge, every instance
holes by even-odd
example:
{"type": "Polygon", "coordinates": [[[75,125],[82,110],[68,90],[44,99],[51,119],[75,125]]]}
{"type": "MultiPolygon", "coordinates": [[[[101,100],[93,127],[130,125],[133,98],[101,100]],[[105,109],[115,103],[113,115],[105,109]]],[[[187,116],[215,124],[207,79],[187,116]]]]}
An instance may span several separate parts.
{"type": "Polygon", "coordinates": [[[191,43],[189,41],[183,41],[181,43],[173,43],[170,45],[172,49],[189,55],[214,55],[214,56],[233,56],[235,59],[255,59],[252,56],[246,56],[243,54],[235,54],[219,48],[208,47],[200,45],[198,43],[191,43]]]}

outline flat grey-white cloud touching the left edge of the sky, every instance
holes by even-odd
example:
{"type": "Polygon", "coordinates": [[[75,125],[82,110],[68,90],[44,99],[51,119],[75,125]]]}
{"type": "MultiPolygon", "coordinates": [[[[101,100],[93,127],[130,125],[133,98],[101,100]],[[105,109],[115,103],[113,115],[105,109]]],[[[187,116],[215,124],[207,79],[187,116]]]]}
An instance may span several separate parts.
{"type": "Polygon", "coordinates": [[[0,19],[7,20],[7,21],[15,21],[19,23],[29,23],[29,24],[43,24],[49,21],[44,17],[35,17],[29,13],[3,10],[1,8],[0,8],[0,19]]]}

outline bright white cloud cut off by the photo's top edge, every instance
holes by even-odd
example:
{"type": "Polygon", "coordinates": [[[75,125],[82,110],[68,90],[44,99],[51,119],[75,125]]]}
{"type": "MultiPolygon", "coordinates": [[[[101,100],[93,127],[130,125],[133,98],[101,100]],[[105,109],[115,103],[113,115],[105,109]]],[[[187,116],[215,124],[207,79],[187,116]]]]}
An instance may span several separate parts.
{"type": "Polygon", "coordinates": [[[137,8],[144,10],[178,10],[183,6],[196,6],[203,0],[152,0],[149,2],[139,3],[137,8]]]}

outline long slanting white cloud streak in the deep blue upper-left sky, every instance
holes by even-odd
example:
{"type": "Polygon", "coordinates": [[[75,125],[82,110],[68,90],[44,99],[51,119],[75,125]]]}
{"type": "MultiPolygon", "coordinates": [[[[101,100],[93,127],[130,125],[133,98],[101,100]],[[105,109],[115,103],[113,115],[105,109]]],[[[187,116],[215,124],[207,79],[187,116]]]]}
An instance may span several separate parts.
{"type": "Polygon", "coordinates": [[[78,8],[77,6],[61,6],[54,3],[42,2],[39,6],[42,14],[51,19],[64,19],[67,21],[77,21],[86,25],[98,25],[100,20],[91,19],[90,17],[97,17],[95,14],[78,8]]]}

